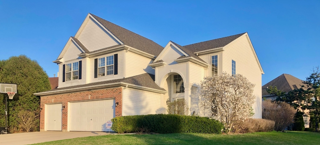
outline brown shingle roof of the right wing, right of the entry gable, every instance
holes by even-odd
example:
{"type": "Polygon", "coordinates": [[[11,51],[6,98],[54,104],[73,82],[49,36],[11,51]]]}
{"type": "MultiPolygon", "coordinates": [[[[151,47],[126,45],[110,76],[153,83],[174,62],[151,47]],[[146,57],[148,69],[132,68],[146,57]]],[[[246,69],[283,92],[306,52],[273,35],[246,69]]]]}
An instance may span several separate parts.
{"type": "Polygon", "coordinates": [[[236,35],[218,38],[218,39],[213,39],[213,40],[204,41],[204,42],[199,42],[199,43],[194,43],[194,44],[189,44],[189,45],[186,45],[183,47],[187,48],[188,50],[192,51],[193,53],[198,52],[198,51],[203,51],[203,50],[210,50],[210,49],[226,46],[227,44],[236,40],[237,38],[239,38],[243,34],[245,34],[245,33],[236,34],[236,35]]]}

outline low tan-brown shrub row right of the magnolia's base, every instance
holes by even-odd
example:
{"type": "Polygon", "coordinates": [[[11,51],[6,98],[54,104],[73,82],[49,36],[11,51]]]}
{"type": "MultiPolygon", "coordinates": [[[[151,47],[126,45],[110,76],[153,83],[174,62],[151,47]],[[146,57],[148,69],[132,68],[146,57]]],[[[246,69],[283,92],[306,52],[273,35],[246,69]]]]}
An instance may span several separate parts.
{"type": "Polygon", "coordinates": [[[267,119],[246,119],[244,121],[237,121],[234,123],[233,133],[254,133],[254,132],[268,132],[272,131],[275,122],[267,119]]]}

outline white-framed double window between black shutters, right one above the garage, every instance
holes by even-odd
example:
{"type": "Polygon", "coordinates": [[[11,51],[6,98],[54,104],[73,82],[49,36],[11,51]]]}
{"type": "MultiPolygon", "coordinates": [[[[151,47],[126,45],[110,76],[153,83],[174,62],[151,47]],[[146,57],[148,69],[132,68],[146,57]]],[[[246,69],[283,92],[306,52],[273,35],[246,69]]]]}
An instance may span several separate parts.
{"type": "Polygon", "coordinates": [[[98,77],[102,77],[106,75],[106,68],[107,68],[107,75],[113,74],[113,55],[108,57],[102,57],[98,59],[98,77]],[[107,58],[107,61],[106,61],[107,58]]]}

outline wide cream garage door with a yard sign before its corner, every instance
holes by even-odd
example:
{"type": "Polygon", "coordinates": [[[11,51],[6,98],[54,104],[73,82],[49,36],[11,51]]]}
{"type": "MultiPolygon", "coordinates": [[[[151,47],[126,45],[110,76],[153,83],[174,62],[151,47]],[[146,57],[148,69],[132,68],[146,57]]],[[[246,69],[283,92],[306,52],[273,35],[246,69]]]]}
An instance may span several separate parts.
{"type": "Polygon", "coordinates": [[[114,117],[115,99],[70,103],[70,131],[109,131],[106,123],[114,117]]]}

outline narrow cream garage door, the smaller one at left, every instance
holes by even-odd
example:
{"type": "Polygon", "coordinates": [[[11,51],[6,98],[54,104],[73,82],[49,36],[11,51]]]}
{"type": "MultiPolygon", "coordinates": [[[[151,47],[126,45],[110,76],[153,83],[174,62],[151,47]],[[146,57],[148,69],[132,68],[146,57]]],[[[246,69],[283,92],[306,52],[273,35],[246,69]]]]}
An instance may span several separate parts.
{"type": "Polygon", "coordinates": [[[61,131],[62,129],[62,104],[47,105],[47,130],[61,131]]]}

